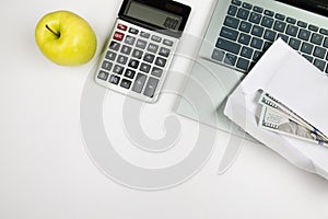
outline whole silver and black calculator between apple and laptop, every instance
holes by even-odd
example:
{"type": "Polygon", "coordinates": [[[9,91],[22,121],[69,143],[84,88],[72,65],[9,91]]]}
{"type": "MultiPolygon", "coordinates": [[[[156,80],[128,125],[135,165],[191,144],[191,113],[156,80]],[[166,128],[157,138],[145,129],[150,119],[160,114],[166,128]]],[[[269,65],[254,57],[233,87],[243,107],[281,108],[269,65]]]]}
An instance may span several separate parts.
{"type": "Polygon", "coordinates": [[[168,0],[124,0],[101,56],[95,81],[154,103],[190,10],[168,0]]]}

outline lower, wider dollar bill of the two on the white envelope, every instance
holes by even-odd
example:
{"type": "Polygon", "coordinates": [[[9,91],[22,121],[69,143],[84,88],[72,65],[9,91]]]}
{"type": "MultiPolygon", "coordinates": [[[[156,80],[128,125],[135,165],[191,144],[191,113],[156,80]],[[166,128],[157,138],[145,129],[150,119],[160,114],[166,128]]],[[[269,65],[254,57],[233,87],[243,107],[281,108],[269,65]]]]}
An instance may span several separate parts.
{"type": "Polygon", "coordinates": [[[313,143],[328,146],[328,140],[325,137],[314,132],[307,127],[300,125],[286,114],[273,110],[272,107],[267,107],[266,105],[262,105],[259,118],[259,127],[313,143]]]}

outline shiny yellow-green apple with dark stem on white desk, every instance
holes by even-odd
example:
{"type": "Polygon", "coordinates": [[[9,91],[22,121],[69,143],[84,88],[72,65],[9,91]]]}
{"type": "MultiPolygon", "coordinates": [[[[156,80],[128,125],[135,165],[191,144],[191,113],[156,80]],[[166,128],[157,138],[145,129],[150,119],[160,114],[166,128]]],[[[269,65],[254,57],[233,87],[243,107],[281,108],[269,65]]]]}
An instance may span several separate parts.
{"type": "Polygon", "coordinates": [[[89,23],[70,11],[44,15],[35,27],[35,41],[42,53],[60,66],[78,66],[90,61],[97,46],[89,23]]]}

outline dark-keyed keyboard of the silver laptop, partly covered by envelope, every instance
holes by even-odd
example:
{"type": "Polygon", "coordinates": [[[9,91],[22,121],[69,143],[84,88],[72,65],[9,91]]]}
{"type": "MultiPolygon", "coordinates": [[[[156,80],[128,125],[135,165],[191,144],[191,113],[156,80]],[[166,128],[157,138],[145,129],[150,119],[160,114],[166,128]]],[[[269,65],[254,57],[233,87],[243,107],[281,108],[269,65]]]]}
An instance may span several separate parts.
{"type": "Polygon", "coordinates": [[[328,30],[239,0],[229,7],[211,58],[246,73],[278,37],[328,73],[328,30]]]}

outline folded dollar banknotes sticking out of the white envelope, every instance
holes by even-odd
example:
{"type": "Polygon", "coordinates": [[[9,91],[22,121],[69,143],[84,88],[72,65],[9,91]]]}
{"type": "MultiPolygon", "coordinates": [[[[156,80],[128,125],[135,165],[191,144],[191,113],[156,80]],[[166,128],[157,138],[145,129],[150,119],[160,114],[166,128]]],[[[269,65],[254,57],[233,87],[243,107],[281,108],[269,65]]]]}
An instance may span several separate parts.
{"type": "Polygon", "coordinates": [[[261,92],[258,103],[261,106],[259,127],[328,147],[328,138],[323,132],[270,94],[261,92]]]}

